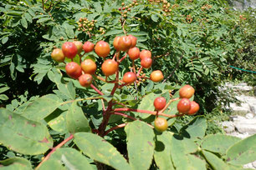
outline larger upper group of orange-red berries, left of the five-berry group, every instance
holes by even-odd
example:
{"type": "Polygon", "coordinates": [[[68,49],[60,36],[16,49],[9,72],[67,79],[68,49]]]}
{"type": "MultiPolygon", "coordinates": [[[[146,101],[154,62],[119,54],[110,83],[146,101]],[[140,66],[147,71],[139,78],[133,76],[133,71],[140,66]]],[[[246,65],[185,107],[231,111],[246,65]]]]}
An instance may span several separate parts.
{"type": "Polygon", "coordinates": [[[94,76],[104,82],[108,82],[107,77],[119,71],[119,64],[123,59],[125,59],[127,55],[129,55],[130,59],[132,60],[133,69],[131,72],[125,72],[122,80],[120,80],[120,82],[123,82],[120,87],[131,84],[133,82],[143,81],[143,79],[146,78],[151,79],[151,81],[153,82],[160,82],[163,79],[163,74],[160,70],[151,72],[150,77],[146,77],[146,74],[141,74],[141,70],[143,68],[151,67],[152,59],[150,51],[142,50],[140,52],[140,49],[136,47],[136,37],[132,35],[115,37],[113,45],[115,47],[116,53],[115,56],[111,59],[105,59],[105,57],[108,57],[110,54],[110,44],[105,41],[100,41],[96,44],[92,42],[84,42],[83,44],[79,41],[64,42],[64,44],[62,45],[62,49],[55,48],[51,54],[51,57],[56,62],[64,62],[65,57],[70,58],[72,62],[66,64],[65,70],[69,77],[79,79],[79,83],[83,87],[90,87],[94,76]],[[85,59],[83,62],[81,61],[82,55],[80,55],[80,53],[83,50],[84,53],[92,52],[93,50],[95,50],[95,53],[99,57],[103,57],[105,59],[105,61],[101,65],[101,70],[106,77],[105,79],[95,75],[97,65],[94,61],[92,61],[91,59],[85,59]],[[119,58],[120,52],[126,52],[125,56],[119,58]],[[80,57],[80,65],[77,62],[73,62],[73,58],[77,54],[80,57]],[[136,72],[134,61],[138,58],[141,59],[141,67],[136,72]]]}

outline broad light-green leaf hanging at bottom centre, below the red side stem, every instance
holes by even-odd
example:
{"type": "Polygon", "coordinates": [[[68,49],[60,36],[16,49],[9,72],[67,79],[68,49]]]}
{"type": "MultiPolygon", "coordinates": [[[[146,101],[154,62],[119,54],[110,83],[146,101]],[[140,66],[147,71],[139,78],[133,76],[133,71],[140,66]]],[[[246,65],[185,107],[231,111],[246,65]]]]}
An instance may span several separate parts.
{"type": "Polygon", "coordinates": [[[150,168],[155,148],[153,129],[145,122],[134,121],[125,126],[125,133],[131,168],[150,168]]]}

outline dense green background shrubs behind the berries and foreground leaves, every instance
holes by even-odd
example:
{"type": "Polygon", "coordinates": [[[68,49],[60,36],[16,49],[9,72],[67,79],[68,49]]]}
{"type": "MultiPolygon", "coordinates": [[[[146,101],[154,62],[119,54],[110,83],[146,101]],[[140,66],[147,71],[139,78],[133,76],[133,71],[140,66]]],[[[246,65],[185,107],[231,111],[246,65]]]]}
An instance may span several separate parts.
{"type": "MultiPolygon", "coordinates": [[[[151,69],[161,69],[165,74],[164,82],[169,83],[172,90],[183,84],[195,87],[195,101],[201,106],[198,114],[206,115],[209,120],[225,117],[225,112],[220,113],[223,108],[218,103],[228,104],[230,100],[218,91],[223,81],[238,79],[255,85],[253,73],[229,67],[246,70],[255,67],[255,10],[234,11],[220,0],[138,1],[127,13],[119,10],[119,7],[129,7],[130,4],[132,1],[128,0],[1,1],[1,107],[15,111],[23,103],[51,92],[57,93],[59,87],[52,76],[56,68],[67,76],[64,65],[50,57],[54,47],[61,47],[70,39],[94,43],[105,40],[111,45],[114,37],[122,35],[124,30],[138,38],[137,47],[151,50],[154,60],[151,69]],[[121,2],[125,2],[125,6],[121,2]],[[91,30],[83,30],[79,28],[79,18],[97,22],[91,30]]],[[[111,49],[113,54],[114,48],[111,49]]],[[[98,64],[102,62],[95,52],[90,52],[87,57],[98,64]]],[[[126,64],[128,66],[129,61],[126,64]]],[[[129,68],[124,66],[121,70],[126,72],[129,68]]],[[[97,72],[100,73],[100,69],[97,72]]],[[[145,71],[146,75],[149,72],[151,70],[145,71]]],[[[131,86],[129,92],[139,96],[146,92],[146,88],[151,90],[151,84],[131,86]]],[[[84,95],[80,89],[77,94],[79,97],[84,95]]],[[[180,123],[185,124],[191,119],[184,117],[180,123]]],[[[207,133],[221,132],[215,124],[212,121],[208,125],[207,133]]],[[[56,143],[65,136],[54,131],[50,133],[56,143]]],[[[116,143],[115,138],[110,140],[116,143]]],[[[0,149],[0,159],[17,154],[2,146],[0,149]]],[[[36,165],[42,157],[29,156],[28,159],[36,165]]]]}

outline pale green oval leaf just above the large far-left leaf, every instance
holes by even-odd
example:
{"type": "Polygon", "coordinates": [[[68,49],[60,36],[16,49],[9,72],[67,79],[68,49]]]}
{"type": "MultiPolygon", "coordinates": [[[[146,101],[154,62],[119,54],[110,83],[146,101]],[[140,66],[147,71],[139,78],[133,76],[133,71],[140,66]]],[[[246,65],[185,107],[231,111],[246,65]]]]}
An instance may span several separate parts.
{"type": "Polygon", "coordinates": [[[54,94],[48,94],[43,97],[35,99],[23,112],[23,117],[30,120],[39,121],[47,117],[50,113],[54,112],[63,101],[54,94]]]}

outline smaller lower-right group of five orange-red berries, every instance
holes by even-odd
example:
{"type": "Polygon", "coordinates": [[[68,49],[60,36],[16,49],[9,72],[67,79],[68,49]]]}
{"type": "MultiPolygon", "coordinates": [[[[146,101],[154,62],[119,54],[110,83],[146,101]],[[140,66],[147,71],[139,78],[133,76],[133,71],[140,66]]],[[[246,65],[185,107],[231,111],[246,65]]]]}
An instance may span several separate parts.
{"type": "MultiPolygon", "coordinates": [[[[195,89],[190,85],[185,85],[180,89],[179,94],[182,99],[177,103],[177,110],[181,113],[181,116],[184,114],[193,115],[199,110],[198,103],[189,100],[189,98],[194,95],[194,92],[195,89]]],[[[168,104],[170,103],[171,102],[168,102],[168,104]]],[[[154,106],[157,111],[154,124],[156,130],[159,132],[163,132],[168,128],[166,119],[158,117],[158,113],[163,112],[166,107],[168,107],[168,104],[166,104],[166,99],[164,97],[156,97],[154,101],[154,106]]]]}

